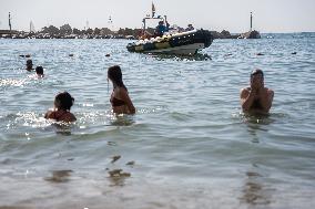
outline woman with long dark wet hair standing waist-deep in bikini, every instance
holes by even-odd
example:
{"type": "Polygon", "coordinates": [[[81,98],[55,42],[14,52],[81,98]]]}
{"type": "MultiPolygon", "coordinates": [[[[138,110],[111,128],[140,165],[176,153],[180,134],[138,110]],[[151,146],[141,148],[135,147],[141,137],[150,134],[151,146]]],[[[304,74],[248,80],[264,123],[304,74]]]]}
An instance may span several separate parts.
{"type": "Polygon", "coordinates": [[[122,73],[119,65],[109,67],[108,79],[113,83],[113,92],[110,100],[113,113],[134,114],[135,108],[129,97],[128,90],[123,84],[122,73]]]}

